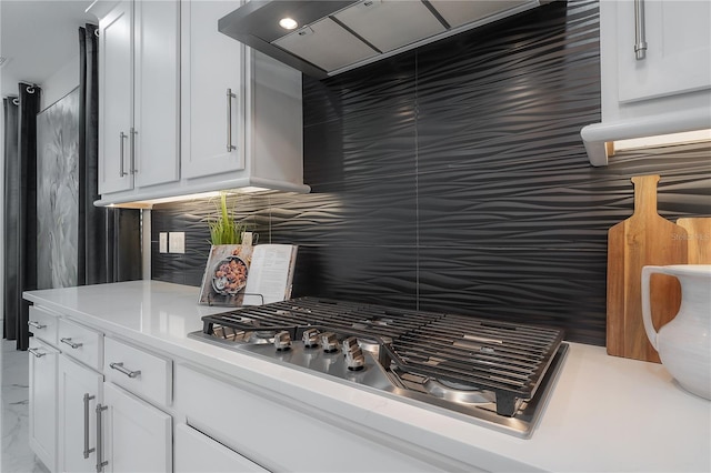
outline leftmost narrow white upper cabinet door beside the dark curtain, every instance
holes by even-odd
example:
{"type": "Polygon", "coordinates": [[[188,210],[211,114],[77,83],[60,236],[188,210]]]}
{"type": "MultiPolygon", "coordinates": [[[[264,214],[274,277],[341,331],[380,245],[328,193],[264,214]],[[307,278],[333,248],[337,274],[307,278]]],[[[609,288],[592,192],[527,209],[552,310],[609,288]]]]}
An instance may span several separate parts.
{"type": "Polygon", "coordinates": [[[133,2],[99,22],[99,193],[133,189],[133,2]]]}

